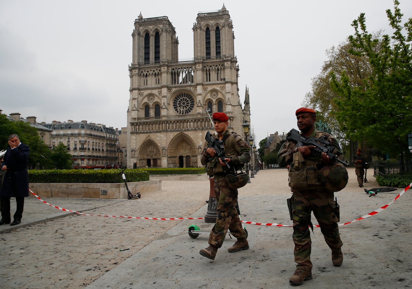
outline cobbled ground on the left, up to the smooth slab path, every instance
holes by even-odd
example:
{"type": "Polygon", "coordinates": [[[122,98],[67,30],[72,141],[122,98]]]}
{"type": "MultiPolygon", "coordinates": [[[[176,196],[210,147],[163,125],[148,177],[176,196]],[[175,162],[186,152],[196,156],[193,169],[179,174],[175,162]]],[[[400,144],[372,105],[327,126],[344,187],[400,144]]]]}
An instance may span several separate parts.
{"type": "MultiPolygon", "coordinates": [[[[192,186],[190,189],[193,190],[193,195],[188,200],[179,197],[178,188],[172,190],[176,183],[180,183],[178,186],[186,186],[185,181],[163,183],[168,184],[163,184],[162,191],[142,195],[136,200],[58,197],[42,200],[85,214],[179,217],[194,213],[208,199],[208,182],[202,182],[205,186],[192,186]],[[95,207],[96,209],[93,209],[95,207]]],[[[12,200],[12,210],[14,204],[12,200]]],[[[0,235],[0,267],[3,268],[0,272],[0,287],[84,287],[163,235],[178,222],[74,215],[44,204],[35,197],[26,198],[20,224],[22,227],[16,229],[9,225],[0,226],[4,232],[0,235]],[[25,222],[35,222],[35,217],[42,222],[24,226],[25,222]],[[46,219],[50,221],[45,221],[46,219]],[[119,251],[128,248],[130,249],[119,251]]]]}

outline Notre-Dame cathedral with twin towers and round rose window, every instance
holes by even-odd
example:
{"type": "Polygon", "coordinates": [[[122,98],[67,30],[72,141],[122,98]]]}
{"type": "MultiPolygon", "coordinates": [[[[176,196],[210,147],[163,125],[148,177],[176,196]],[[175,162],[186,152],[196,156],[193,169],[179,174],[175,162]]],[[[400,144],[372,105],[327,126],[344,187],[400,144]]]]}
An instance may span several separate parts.
{"type": "Polygon", "coordinates": [[[223,5],[199,12],[193,25],[194,58],[178,61],[178,38],[167,16],[134,22],[129,66],[127,167],[199,167],[207,131],[206,109],[229,116],[229,130],[243,135],[250,123],[249,92],[239,98],[239,66],[232,19],[223,5]]]}

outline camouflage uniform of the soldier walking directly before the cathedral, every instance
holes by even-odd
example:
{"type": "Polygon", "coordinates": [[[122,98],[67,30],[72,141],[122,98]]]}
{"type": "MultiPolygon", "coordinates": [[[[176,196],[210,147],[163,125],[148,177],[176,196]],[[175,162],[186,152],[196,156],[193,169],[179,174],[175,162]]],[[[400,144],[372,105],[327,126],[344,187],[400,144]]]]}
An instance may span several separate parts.
{"type": "MultiPolygon", "coordinates": [[[[213,137],[217,138],[215,135],[213,135],[213,137]]],[[[231,167],[241,168],[244,163],[250,161],[250,146],[241,136],[226,130],[226,132],[223,133],[223,138],[225,139],[224,147],[227,158],[232,159],[229,162],[231,167]]],[[[229,172],[226,166],[222,166],[218,157],[211,157],[211,155],[206,152],[207,148],[208,146],[206,145],[200,160],[202,164],[207,164],[208,175],[215,177],[215,194],[218,205],[216,209],[218,218],[209,235],[208,243],[220,248],[225,240],[228,229],[237,239],[245,238],[246,233],[242,228],[239,214],[235,209],[238,192],[236,189],[227,186],[225,181],[225,176],[233,171],[229,172]]]]}

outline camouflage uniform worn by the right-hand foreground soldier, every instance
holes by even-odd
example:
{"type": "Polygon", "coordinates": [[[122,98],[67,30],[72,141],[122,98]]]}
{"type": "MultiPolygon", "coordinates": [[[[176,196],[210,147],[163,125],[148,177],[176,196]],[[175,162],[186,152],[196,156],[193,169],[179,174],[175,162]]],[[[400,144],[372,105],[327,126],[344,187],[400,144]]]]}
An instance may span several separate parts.
{"type": "MultiPolygon", "coordinates": [[[[311,134],[316,139],[321,135],[327,136],[327,141],[335,147],[332,152],[337,155],[342,154],[339,143],[333,136],[322,131],[316,131],[311,134]]],[[[321,155],[303,156],[295,148],[296,143],[286,141],[278,153],[278,164],[281,167],[289,167],[289,186],[293,195],[291,197],[293,213],[293,242],[295,243],[294,255],[297,269],[311,271],[312,263],[311,238],[309,226],[311,223],[311,212],[321,228],[326,244],[332,251],[339,250],[342,247],[342,240],[339,236],[339,205],[334,200],[334,192],[326,190],[318,180],[320,169],[325,166],[321,161],[321,155]],[[304,172],[304,181],[299,183],[293,179],[293,172],[297,171],[296,167],[301,166],[299,172],[304,172]],[[292,177],[291,177],[292,175],[292,177]]],[[[342,159],[340,156],[339,158],[342,159]]],[[[301,180],[303,180],[301,178],[301,180]]]]}

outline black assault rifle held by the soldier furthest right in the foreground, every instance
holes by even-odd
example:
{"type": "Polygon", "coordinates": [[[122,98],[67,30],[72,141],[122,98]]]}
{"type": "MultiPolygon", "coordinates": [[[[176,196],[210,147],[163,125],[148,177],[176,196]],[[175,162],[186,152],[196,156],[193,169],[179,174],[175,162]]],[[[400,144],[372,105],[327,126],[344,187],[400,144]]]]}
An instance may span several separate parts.
{"type": "Polygon", "coordinates": [[[348,165],[346,162],[339,159],[335,154],[332,153],[335,147],[326,140],[325,135],[322,135],[318,139],[315,139],[314,136],[307,137],[300,134],[296,129],[291,129],[288,133],[288,136],[286,136],[286,140],[296,142],[297,146],[315,146],[315,148],[311,149],[313,155],[325,152],[331,162],[340,162],[345,166],[348,165]]]}

